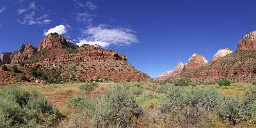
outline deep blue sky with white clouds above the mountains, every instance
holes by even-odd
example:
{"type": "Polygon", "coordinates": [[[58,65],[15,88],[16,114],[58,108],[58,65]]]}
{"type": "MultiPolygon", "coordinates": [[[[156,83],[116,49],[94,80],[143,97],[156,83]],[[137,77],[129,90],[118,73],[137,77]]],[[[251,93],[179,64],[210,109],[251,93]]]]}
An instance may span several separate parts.
{"type": "Polygon", "coordinates": [[[1,0],[0,52],[26,42],[37,47],[45,33],[58,31],[75,43],[121,52],[156,77],[194,52],[211,60],[219,49],[235,51],[256,29],[255,6],[253,0],[1,0]]]}

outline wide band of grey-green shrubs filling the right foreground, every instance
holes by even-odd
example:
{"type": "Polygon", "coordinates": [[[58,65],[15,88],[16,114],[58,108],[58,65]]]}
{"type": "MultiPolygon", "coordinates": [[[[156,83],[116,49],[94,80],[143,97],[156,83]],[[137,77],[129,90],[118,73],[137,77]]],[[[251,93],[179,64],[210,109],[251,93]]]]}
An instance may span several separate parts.
{"type": "Polygon", "coordinates": [[[164,95],[159,106],[161,113],[184,122],[184,127],[198,124],[202,119],[211,120],[210,115],[218,115],[230,124],[256,122],[255,86],[246,90],[244,99],[224,97],[213,88],[163,86],[157,92],[164,95]]]}

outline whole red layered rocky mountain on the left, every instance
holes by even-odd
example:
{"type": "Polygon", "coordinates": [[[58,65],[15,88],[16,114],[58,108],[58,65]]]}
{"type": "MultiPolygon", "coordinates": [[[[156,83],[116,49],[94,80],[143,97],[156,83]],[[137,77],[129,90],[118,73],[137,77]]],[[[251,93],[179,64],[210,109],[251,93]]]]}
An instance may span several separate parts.
{"type": "MultiPolygon", "coordinates": [[[[31,68],[38,68],[40,72],[49,77],[58,73],[65,81],[151,80],[147,74],[132,67],[123,54],[102,49],[99,45],[79,47],[57,33],[45,36],[38,49],[30,44],[24,44],[17,52],[4,53],[1,56],[1,63],[26,63],[28,72],[31,68]]],[[[7,74],[8,72],[0,71],[1,73],[7,74]]]]}

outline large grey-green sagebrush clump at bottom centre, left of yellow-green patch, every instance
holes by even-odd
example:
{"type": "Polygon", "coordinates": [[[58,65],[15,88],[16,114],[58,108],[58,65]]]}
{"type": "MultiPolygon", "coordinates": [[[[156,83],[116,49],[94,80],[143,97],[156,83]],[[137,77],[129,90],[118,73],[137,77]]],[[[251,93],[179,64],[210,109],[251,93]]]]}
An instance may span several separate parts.
{"type": "Polygon", "coordinates": [[[68,101],[68,106],[79,108],[83,116],[90,118],[91,127],[133,127],[134,122],[143,115],[134,94],[121,84],[97,100],[74,97],[68,101]]]}

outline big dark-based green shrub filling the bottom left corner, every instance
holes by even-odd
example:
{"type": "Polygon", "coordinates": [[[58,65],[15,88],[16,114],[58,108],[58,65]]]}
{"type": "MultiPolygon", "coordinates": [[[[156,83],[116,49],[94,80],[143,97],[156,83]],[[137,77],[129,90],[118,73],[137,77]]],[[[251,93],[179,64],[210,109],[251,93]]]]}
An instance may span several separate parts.
{"type": "Polygon", "coordinates": [[[49,127],[61,117],[44,97],[19,86],[0,90],[0,102],[0,127],[49,127]]]}

